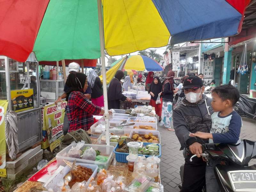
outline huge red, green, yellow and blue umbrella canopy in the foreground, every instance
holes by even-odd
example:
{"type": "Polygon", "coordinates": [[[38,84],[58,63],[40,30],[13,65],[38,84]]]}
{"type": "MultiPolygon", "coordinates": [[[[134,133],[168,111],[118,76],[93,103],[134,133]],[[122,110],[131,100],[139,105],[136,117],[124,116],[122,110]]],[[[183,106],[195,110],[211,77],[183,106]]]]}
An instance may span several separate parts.
{"type": "MultiPolygon", "coordinates": [[[[250,0],[102,0],[105,49],[121,55],[149,47],[226,37],[241,31],[250,0]],[[211,8],[209,8],[209,6],[211,8]]],[[[0,0],[0,55],[24,62],[100,57],[97,0],[0,0]]]]}

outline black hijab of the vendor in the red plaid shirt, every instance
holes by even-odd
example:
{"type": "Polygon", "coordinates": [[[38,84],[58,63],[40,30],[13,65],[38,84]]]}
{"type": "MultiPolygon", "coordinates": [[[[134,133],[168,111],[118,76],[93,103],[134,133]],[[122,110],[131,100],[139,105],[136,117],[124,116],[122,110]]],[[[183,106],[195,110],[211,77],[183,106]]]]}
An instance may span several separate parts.
{"type": "Polygon", "coordinates": [[[68,75],[68,79],[66,81],[66,85],[68,86],[68,92],[66,100],[68,101],[68,97],[72,91],[79,91],[84,93],[84,84],[87,76],[84,73],[70,73],[68,75]]]}

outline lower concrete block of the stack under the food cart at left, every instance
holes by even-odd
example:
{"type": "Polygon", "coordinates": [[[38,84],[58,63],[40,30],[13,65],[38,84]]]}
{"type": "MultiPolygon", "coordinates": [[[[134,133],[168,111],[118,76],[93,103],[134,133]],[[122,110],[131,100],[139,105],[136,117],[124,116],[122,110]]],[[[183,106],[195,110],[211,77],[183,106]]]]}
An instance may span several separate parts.
{"type": "Polygon", "coordinates": [[[24,172],[26,172],[28,169],[30,169],[31,167],[35,166],[43,158],[43,149],[40,149],[40,151],[36,155],[38,155],[38,154],[40,154],[40,156],[38,156],[37,158],[31,157],[30,161],[28,160],[28,166],[24,167],[19,172],[16,172],[15,174],[10,174],[7,171],[7,178],[10,179],[10,180],[15,180],[17,177],[19,177],[20,175],[24,174],[24,172]]]}

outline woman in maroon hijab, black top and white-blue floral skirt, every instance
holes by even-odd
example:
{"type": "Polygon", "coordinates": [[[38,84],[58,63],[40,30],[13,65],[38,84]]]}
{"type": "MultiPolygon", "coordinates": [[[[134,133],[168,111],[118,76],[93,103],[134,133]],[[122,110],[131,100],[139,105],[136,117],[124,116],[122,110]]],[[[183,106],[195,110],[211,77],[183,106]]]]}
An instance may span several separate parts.
{"type": "Polygon", "coordinates": [[[171,129],[173,94],[177,92],[173,87],[174,75],[173,71],[169,71],[162,87],[163,106],[160,126],[164,126],[168,131],[174,131],[171,129]]]}

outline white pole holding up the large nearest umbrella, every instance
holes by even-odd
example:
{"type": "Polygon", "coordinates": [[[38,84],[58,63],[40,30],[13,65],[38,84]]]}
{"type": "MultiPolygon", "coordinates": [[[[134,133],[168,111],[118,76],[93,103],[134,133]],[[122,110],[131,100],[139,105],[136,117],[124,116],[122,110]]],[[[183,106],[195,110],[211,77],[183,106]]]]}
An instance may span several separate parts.
{"type": "Polygon", "coordinates": [[[99,29],[100,29],[100,56],[101,56],[101,66],[102,66],[102,81],[103,81],[103,96],[104,96],[104,119],[105,119],[105,129],[106,129],[106,144],[110,145],[109,142],[109,114],[108,114],[108,95],[107,95],[107,80],[106,80],[106,66],[105,66],[105,53],[104,53],[104,33],[103,33],[103,21],[102,21],[102,6],[101,0],[98,1],[98,19],[99,19],[99,29]]]}

